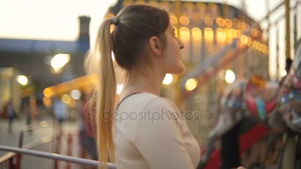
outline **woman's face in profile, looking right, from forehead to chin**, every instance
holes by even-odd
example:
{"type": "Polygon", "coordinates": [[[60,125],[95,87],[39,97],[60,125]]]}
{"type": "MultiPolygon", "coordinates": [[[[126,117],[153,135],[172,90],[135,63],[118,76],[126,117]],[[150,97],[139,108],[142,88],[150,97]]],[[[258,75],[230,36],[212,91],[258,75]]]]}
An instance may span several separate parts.
{"type": "Polygon", "coordinates": [[[163,50],[162,66],[166,73],[177,74],[184,71],[181,49],[184,44],[176,37],[174,26],[169,22],[165,31],[166,45],[163,50]]]}

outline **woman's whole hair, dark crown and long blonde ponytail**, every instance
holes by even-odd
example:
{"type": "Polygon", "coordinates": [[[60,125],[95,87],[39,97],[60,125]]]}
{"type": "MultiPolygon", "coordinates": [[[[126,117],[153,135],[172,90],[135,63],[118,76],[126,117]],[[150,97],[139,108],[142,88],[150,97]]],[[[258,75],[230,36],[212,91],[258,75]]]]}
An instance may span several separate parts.
{"type": "MultiPolygon", "coordinates": [[[[152,36],[158,36],[165,42],[163,35],[168,25],[169,15],[165,10],[141,4],[127,6],[116,18],[106,19],[100,25],[95,50],[90,51],[85,60],[86,71],[96,76],[93,79],[97,79],[90,106],[94,106],[94,100],[97,100],[97,144],[100,162],[106,164],[108,160],[115,160],[113,117],[116,76],[111,52],[114,52],[118,66],[130,71],[141,60],[147,59],[141,58],[140,53],[152,36]],[[113,19],[116,26],[110,34],[113,19]]],[[[100,165],[99,168],[103,167],[107,168],[106,165],[100,165]]]]}

